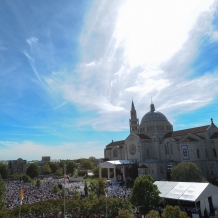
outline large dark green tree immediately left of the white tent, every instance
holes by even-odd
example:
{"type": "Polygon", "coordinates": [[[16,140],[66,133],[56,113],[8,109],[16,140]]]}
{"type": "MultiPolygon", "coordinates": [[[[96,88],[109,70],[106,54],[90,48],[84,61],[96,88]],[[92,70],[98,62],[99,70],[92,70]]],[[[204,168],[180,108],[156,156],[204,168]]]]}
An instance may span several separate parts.
{"type": "Polygon", "coordinates": [[[160,203],[159,190],[154,184],[154,180],[149,176],[136,178],[130,200],[133,205],[140,206],[140,211],[147,214],[157,204],[160,203]]]}

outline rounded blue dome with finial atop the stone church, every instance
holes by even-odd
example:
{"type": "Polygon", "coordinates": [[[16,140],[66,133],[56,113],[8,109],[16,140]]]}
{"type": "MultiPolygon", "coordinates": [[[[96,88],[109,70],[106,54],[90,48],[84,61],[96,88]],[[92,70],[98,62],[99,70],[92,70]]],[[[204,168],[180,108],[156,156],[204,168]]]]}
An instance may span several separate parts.
{"type": "Polygon", "coordinates": [[[153,123],[153,122],[159,122],[159,123],[167,122],[167,123],[169,123],[169,121],[167,120],[165,115],[163,115],[161,112],[155,110],[154,104],[152,103],[151,110],[143,116],[140,125],[146,125],[148,123],[153,123]]]}

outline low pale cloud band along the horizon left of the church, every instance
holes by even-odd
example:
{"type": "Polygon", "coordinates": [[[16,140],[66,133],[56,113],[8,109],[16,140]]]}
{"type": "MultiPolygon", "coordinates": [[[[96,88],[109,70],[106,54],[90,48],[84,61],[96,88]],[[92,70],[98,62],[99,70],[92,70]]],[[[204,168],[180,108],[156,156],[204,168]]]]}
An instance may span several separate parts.
{"type": "Polygon", "coordinates": [[[5,160],[10,154],[11,160],[18,158],[26,160],[40,160],[42,156],[50,156],[51,159],[77,159],[78,157],[90,157],[90,148],[95,157],[102,157],[102,148],[99,142],[61,143],[60,145],[43,145],[33,141],[13,142],[0,141],[0,160],[5,160]]]}

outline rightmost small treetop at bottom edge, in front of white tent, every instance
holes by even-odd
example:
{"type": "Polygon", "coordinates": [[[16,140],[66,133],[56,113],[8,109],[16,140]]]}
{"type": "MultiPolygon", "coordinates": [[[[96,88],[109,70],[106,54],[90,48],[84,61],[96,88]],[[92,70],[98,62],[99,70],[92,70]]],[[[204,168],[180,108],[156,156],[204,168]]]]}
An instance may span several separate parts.
{"type": "Polygon", "coordinates": [[[186,212],[180,210],[179,206],[167,205],[161,214],[163,218],[189,218],[186,212]]]}

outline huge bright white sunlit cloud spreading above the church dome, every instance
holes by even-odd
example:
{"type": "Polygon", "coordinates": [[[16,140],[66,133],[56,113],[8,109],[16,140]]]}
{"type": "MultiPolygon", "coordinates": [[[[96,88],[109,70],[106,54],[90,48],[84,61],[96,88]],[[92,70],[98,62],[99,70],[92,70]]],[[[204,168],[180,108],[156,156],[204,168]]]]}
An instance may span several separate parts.
{"type": "Polygon", "coordinates": [[[172,111],[175,116],[207,105],[218,93],[217,72],[190,78],[193,71],[186,68],[202,35],[216,35],[211,3],[98,2],[81,35],[77,74],[53,73],[48,86],[82,110],[95,110],[97,118],[80,124],[98,130],[127,129],[132,98],[140,118],[151,97],[169,119],[172,111]]]}

